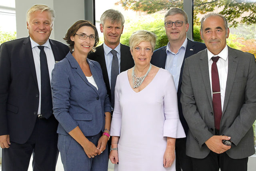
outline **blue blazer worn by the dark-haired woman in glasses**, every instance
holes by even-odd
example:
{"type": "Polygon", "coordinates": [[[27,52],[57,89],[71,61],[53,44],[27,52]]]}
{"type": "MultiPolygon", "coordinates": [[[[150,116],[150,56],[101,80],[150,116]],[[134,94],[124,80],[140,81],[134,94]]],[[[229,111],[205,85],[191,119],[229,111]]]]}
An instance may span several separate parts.
{"type": "Polygon", "coordinates": [[[76,126],[85,136],[104,130],[104,112],[111,112],[110,100],[100,64],[89,59],[87,62],[98,90],[88,82],[70,52],[52,70],[53,111],[59,121],[57,133],[68,135],[76,126]]]}

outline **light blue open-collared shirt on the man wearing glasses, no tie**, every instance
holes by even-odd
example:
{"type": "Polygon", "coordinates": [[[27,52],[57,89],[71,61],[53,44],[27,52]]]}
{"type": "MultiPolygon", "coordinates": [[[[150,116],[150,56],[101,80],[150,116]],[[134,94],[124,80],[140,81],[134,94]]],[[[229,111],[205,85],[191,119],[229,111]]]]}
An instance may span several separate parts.
{"type": "Polygon", "coordinates": [[[165,69],[172,74],[176,91],[178,91],[178,85],[180,80],[180,69],[184,60],[187,44],[188,44],[188,40],[186,38],[176,54],[170,50],[170,42],[168,42],[166,46],[167,56],[166,56],[165,69]]]}

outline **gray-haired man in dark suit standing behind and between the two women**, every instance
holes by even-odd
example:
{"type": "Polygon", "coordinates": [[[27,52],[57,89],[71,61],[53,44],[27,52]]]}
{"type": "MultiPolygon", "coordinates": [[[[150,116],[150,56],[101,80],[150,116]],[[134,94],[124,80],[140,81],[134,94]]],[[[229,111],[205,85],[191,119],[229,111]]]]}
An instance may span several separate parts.
{"type": "MultiPolygon", "coordinates": [[[[114,90],[116,76],[134,66],[130,47],[120,43],[124,29],[124,16],[117,10],[106,10],[100,17],[100,31],[104,34],[104,43],[89,54],[90,60],[100,63],[107,93],[111,101],[111,115],[114,110],[114,90]],[[114,60],[113,60],[114,59],[114,60]],[[116,62],[115,62],[116,61],[116,62]]],[[[111,139],[108,142],[110,151],[111,139]]]]}

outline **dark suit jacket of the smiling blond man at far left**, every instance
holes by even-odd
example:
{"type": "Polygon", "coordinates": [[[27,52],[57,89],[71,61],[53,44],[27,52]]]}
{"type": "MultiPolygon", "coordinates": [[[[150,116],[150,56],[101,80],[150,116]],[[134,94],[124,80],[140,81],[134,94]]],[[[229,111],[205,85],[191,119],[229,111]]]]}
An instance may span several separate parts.
{"type": "MultiPolygon", "coordinates": [[[[55,40],[49,39],[49,42],[55,61],[62,60],[68,53],[68,46],[55,40]]],[[[0,135],[9,134],[10,141],[22,144],[34,129],[39,104],[29,37],[1,45],[0,73],[0,135]]]]}

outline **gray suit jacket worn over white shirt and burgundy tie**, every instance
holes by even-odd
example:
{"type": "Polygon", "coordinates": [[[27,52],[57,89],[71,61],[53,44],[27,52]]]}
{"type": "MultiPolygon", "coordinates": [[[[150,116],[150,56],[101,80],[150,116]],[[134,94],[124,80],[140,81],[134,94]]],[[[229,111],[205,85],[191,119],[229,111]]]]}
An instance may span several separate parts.
{"type": "MultiPolygon", "coordinates": [[[[220,135],[231,137],[229,157],[255,153],[252,124],[256,119],[256,63],[252,54],[228,47],[228,78],[220,135]]],[[[207,49],[186,58],[181,103],[188,123],[186,154],[202,159],[210,153],[205,141],[215,134],[207,49]]]]}

